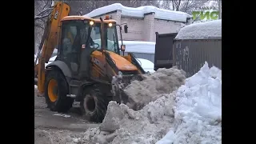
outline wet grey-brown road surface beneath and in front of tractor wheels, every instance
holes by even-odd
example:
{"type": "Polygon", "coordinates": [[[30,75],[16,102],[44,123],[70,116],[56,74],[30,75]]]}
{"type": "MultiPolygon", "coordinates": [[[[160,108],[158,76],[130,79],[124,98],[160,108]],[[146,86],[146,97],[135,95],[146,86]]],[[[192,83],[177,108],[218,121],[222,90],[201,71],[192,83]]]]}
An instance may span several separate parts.
{"type": "Polygon", "coordinates": [[[72,135],[80,134],[98,123],[83,119],[78,110],[72,108],[68,114],[58,114],[46,108],[45,98],[34,92],[34,143],[68,143],[72,135]]]}

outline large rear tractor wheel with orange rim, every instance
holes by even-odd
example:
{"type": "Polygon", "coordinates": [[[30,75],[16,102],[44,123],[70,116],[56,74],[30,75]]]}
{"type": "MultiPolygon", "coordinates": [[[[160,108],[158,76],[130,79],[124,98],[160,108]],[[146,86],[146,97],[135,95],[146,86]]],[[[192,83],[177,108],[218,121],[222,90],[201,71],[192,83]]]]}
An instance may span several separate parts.
{"type": "Polygon", "coordinates": [[[45,98],[47,107],[52,111],[66,113],[72,107],[74,98],[69,93],[66,78],[60,70],[50,70],[46,74],[45,98]]]}

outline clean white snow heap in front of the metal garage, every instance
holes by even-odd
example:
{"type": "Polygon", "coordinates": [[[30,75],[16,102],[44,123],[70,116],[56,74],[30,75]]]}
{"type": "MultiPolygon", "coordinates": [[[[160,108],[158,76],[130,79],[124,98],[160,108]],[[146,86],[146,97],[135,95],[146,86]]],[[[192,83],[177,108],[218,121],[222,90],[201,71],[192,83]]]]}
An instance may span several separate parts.
{"type": "Polygon", "coordinates": [[[201,70],[186,79],[176,94],[174,127],[157,144],[222,143],[221,70],[201,70]]]}

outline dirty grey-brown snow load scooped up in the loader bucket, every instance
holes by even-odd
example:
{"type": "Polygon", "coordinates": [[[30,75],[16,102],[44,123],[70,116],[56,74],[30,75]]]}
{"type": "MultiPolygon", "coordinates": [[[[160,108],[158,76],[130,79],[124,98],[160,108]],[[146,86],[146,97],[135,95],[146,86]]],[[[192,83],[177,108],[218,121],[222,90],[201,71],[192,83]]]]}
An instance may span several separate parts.
{"type": "Polygon", "coordinates": [[[124,90],[130,98],[130,103],[127,103],[127,106],[135,107],[135,110],[138,110],[159,98],[161,96],[159,94],[170,94],[172,91],[178,90],[178,87],[185,82],[185,75],[183,70],[178,70],[176,67],[164,68],[158,69],[154,74],[145,75],[141,82],[131,82],[124,90]]]}

